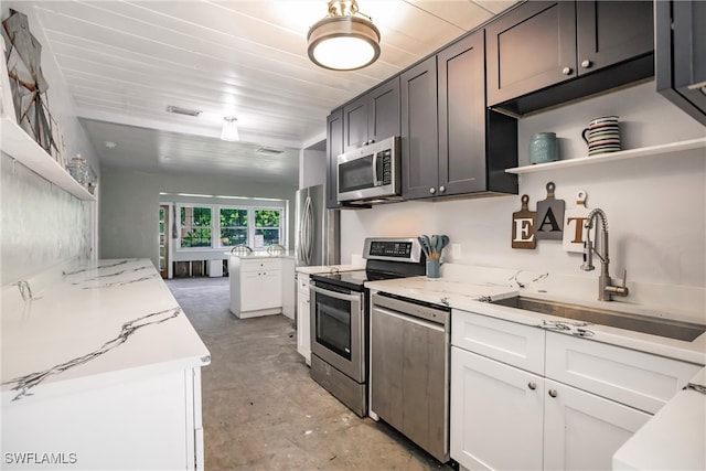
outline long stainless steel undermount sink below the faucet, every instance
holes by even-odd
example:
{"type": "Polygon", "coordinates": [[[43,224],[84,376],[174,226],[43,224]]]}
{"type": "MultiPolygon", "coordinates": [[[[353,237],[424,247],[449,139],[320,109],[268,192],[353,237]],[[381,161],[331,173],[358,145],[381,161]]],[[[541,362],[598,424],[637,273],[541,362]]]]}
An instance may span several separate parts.
{"type": "Polygon", "coordinates": [[[567,302],[545,301],[524,296],[499,299],[498,301],[491,301],[491,303],[687,342],[694,341],[706,332],[706,325],[703,324],[650,318],[567,302]]]}

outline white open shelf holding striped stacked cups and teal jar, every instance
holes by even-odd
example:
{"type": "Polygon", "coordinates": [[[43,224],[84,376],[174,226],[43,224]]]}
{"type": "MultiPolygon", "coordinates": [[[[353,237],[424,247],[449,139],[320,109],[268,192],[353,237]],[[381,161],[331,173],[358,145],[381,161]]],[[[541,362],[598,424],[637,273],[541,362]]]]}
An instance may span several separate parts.
{"type": "Polygon", "coordinates": [[[611,161],[639,159],[649,156],[678,157],[700,154],[706,158],[706,138],[691,139],[681,142],[672,142],[659,146],[642,147],[639,149],[621,150],[598,156],[581,157],[578,159],[557,160],[556,162],[538,163],[535,165],[515,167],[506,169],[507,173],[534,173],[546,170],[568,169],[569,167],[590,165],[593,163],[609,163],[611,161]]]}

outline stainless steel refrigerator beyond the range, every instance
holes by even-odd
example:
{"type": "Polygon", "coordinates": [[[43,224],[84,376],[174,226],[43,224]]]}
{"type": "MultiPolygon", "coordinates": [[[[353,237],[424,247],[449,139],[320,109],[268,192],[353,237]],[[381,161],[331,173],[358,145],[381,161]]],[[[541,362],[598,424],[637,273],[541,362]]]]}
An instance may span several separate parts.
{"type": "Polygon", "coordinates": [[[325,186],[315,185],[299,190],[295,211],[297,266],[340,264],[341,220],[339,211],[327,210],[325,186]]]}

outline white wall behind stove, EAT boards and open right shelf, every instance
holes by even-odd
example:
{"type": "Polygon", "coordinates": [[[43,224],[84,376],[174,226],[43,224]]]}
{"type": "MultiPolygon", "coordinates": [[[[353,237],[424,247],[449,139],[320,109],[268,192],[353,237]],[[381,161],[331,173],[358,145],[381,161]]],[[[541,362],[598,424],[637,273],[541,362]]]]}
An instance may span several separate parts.
{"type": "MultiPolygon", "coordinates": [[[[623,147],[635,148],[706,137],[698,122],[654,92],[650,82],[520,120],[520,164],[528,163],[526,143],[539,131],[555,131],[563,158],[586,154],[580,131],[591,118],[618,115],[623,147]]],[[[537,172],[521,176],[520,195],[530,210],[546,199],[545,185],[556,183],[556,197],[567,207],[578,190],[587,206],[605,210],[610,233],[611,275],[628,269],[632,281],[706,285],[706,156],[654,157],[537,172]]],[[[533,269],[597,277],[579,269],[581,254],[566,253],[560,240],[538,240],[535,250],[511,248],[512,213],[520,195],[448,202],[405,202],[372,210],[342,211],[341,256],[349,263],[367,236],[447,234],[461,244],[461,256],[447,261],[501,268],[533,269]]]]}

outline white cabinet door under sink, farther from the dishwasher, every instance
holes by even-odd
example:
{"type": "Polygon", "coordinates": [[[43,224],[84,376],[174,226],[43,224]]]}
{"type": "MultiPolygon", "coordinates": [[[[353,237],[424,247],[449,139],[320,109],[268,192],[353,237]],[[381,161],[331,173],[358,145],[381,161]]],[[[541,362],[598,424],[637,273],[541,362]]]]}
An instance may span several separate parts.
{"type": "Polygon", "coordinates": [[[652,415],[545,379],[544,469],[609,470],[616,451],[652,415]]]}

